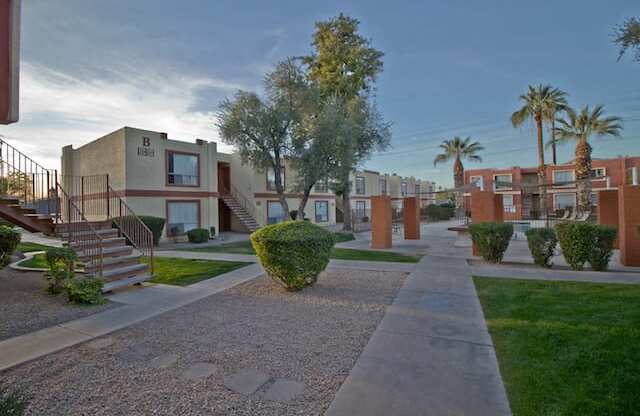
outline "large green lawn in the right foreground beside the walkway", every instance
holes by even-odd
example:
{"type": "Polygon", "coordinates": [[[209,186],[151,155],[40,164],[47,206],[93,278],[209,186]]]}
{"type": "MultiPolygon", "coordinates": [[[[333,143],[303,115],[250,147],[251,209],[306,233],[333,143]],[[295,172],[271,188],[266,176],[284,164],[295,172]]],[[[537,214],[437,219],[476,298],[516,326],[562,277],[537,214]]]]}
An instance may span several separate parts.
{"type": "Polygon", "coordinates": [[[640,286],[474,282],[514,415],[640,414],[640,286]]]}

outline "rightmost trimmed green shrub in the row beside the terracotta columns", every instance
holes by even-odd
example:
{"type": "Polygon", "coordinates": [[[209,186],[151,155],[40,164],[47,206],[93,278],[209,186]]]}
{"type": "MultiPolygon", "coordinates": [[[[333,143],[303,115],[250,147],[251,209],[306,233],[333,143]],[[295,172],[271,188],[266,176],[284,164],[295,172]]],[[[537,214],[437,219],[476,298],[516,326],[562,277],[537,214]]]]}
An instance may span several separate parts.
{"type": "Polygon", "coordinates": [[[613,227],[590,223],[556,225],[562,255],[573,270],[589,263],[593,270],[607,270],[618,231],[613,227]]]}

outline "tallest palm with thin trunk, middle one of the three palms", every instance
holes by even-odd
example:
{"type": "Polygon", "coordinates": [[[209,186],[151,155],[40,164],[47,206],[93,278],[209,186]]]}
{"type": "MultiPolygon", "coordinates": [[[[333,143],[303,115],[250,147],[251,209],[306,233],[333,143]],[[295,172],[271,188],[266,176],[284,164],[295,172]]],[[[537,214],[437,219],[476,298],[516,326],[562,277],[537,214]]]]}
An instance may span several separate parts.
{"type": "Polygon", "coordinates": [[[566,93],[553,88],[551,85],[529,85],[526,94],[520,96],[522,107],[511,115],[513,127],[519,127],[527,120],[533,120],[536,125],[538,141],[538,185],[540,186],[540,211],[546,213],[547,197],[545,188],[544,137],[543,127],[552,109],[555,109],[566,93]]]}

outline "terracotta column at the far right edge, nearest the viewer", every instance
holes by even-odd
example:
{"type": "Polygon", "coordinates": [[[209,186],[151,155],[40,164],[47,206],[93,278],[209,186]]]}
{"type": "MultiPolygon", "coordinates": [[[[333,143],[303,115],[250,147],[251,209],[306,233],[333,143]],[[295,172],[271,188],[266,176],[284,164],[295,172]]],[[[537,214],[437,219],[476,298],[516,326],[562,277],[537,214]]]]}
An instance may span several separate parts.
{"type": "Polygon", "coordinates": [[[618,188],[618,235],[620,262],[625,266],[640,266],[640,186],[618,188]]]}

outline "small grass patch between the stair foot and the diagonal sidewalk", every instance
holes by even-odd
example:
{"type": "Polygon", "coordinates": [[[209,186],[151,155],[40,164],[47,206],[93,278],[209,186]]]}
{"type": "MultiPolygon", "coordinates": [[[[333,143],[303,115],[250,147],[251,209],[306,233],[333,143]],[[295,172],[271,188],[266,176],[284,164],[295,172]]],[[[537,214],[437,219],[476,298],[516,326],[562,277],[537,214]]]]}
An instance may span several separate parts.
{"type": "Polygon", "coordinates": [[[252,263],[222,260],[193,260],[177,257],[155,257],[154,283],[188,286],[201,280],[227,273],[252,263]]]}

